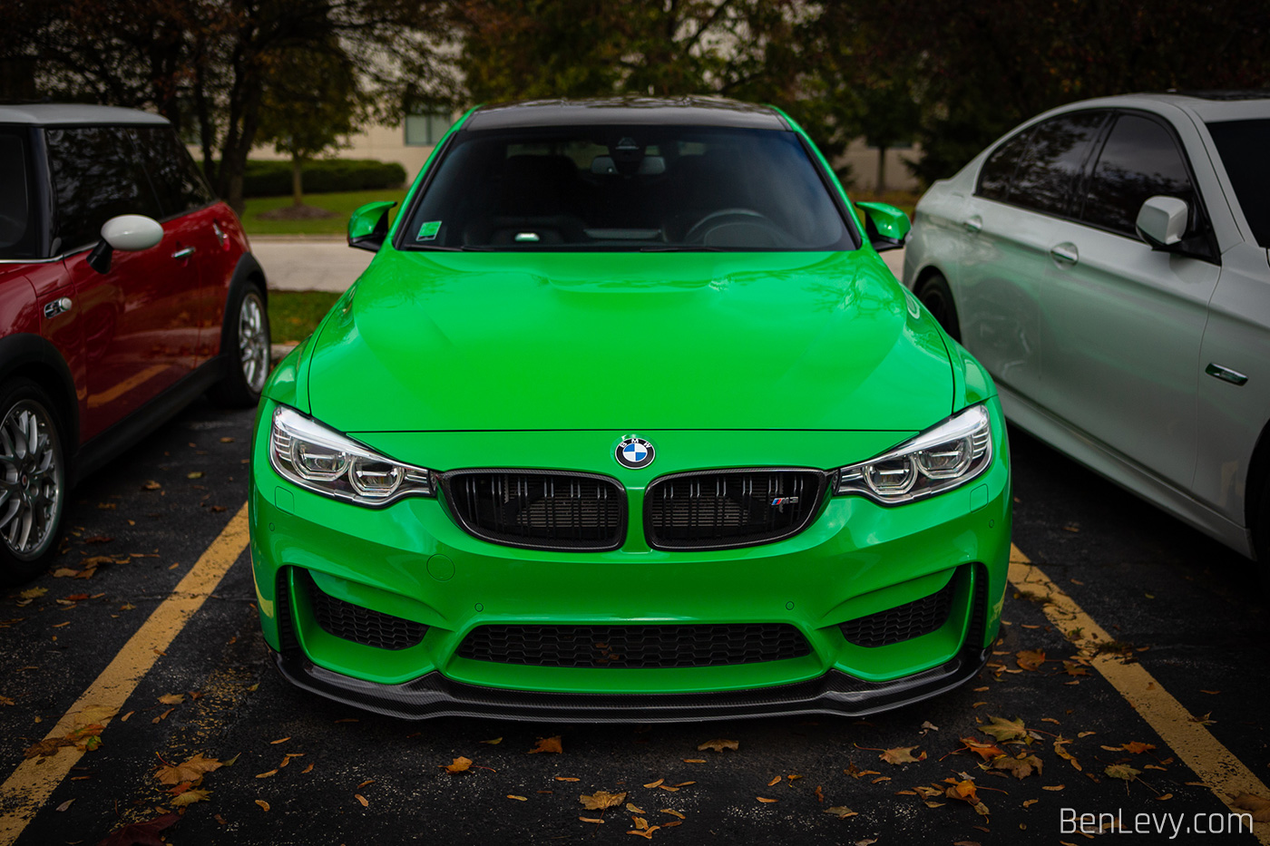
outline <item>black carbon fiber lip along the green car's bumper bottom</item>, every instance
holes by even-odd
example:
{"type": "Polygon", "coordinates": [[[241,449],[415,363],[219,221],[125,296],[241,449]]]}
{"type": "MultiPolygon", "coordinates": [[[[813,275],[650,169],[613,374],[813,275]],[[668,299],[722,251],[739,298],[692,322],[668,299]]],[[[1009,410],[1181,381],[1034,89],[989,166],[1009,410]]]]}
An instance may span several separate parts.
{"type": "Polygon", "coordinates": [[[988,661],[988,649],[892,682],[869,682],[831,669],[796,685],[704,694],[546,694],[479,687],[431,672],[401,685],[380,685],[318,667],[298,650],[273,653],[297,687],[376,714],[408,720],[485,716],[538,723],[677,723],[794,714],[864,716],[958,687],[988,661]]]}

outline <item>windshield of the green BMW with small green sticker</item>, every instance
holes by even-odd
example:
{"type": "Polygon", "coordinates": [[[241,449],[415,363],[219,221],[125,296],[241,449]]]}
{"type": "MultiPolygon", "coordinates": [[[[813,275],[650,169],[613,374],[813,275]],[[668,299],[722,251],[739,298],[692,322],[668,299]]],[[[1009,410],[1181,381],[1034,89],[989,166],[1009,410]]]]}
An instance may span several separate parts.
{"type": "Polygon", "coordinates": [[[400,249],[856,249],[794,132],[593,126],[458,132],[400,249]]]}

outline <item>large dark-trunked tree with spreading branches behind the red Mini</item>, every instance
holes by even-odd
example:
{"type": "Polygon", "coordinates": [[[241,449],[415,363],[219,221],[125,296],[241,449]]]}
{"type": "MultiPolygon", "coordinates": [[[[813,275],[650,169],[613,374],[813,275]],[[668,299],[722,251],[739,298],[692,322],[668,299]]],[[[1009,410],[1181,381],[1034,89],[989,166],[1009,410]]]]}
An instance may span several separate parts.
{"type": "Polygon", "coordinates": [[[243,210],[243,171],[272,69],[287,51],[339,53],[376,117],[400,117],[408,86],[453,85],[441,58],[443,0],[42,0],[6,9],[0,61],[34,62],[60,100],[151,108],[197,127],[217,193],[243,210]],[[213,163],[218,159],[218,166],[213,163]]]}

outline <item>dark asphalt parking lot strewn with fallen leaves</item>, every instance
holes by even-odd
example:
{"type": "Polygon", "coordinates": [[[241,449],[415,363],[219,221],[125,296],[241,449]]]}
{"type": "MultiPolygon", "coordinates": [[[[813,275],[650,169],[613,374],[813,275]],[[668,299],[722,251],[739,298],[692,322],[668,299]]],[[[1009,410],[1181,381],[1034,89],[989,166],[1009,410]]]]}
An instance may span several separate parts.
{"type": "Polygon", "coordinates": [[[274,675],[251,418],[199,401],[89,478],[57,569],[0,594],[0,845],[1270,842],[1252,565],[1017,431],[1017,586],[973,683],[867,720],[552,725],[396,722],[274,675]],[[1255,835],[1200,833],[1238,831],[1245,791],[1255,835]]]}

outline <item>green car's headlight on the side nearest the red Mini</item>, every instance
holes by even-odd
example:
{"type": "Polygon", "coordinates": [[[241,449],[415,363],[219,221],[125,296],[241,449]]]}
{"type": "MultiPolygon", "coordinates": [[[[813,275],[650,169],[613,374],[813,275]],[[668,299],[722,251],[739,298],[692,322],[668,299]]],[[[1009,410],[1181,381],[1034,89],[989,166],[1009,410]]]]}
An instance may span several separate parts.
{"type": "Polygon", "coordinates": [[[273,412],[269,461],[301,488],[359,506],[434,492],[432,470],[394,461],[284,405],[273,412]]]}

